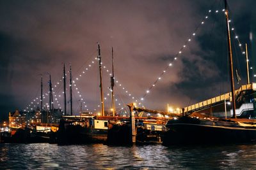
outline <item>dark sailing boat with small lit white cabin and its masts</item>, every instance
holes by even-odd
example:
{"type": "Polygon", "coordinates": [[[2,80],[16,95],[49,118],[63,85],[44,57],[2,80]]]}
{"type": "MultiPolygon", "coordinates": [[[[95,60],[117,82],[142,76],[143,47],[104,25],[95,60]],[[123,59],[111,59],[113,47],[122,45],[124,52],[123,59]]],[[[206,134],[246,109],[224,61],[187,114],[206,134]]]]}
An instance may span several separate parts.
{"type": "Polygon", "coordinates": [[[70,116],[65,115],[60,121],[57,135],[58,144],[75,143],[104,143],[108,134],[108,117],[104,117],[104,97],[102,89],[102,62],[100,56],[100,45],[98,44],[98,59],[100,71],[100,99],[102,117],[95,117],[90,114],[80,116],[72,115],[72,75],[70,67],[70,116]]]}

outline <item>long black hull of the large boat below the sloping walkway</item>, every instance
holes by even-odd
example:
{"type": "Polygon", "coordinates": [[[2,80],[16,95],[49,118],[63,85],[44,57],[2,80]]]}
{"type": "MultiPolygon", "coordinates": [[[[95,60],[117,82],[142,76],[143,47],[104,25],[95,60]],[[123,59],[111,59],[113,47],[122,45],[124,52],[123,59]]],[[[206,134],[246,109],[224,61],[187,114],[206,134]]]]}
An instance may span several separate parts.
{"type": "Polygon", "coordinates": [[[236,122],[200,120],[183,117],[170,120],[164,145],[251,143],[256,141],[255,127],[241,127],[236,122]]]}

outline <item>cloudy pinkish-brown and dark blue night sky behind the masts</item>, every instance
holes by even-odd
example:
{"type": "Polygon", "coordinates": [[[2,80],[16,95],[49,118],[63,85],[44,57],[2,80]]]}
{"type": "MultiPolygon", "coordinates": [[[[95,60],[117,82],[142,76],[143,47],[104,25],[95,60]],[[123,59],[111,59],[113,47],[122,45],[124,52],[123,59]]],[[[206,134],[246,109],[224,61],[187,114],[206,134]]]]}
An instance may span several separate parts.
{"type": "MultiPolygon", "coordinates": [[[[253,59],[256,53],[251,48],[255,47],[255,5],[253,0],[229,2],[230,24],[234,24],[242,46],[248,43],[250,48],[250,67],[256,62],[253,59]]],[[[172,66],[144,97],[142,103],[146,108],[166,110],[167,103],[181,108],[228,92],[227,37],[222,9],[221,0],[1,0],[0,122],[7,118],[9,111],[24,110],[40,96],[40,74],[44,78],[44,93],[49,90],[49,73],[52,85],[61,80],[63,63],[67,70],[69,64],[72,65],[76,81],[74,112],[78,114],[80,110],[79,95],[85,102],[84,111],[87,108],[100,111],[99,67],[92,63],[97,62],[97,42],[102,48],[103,66],[109,71],[111,46],[114,48],[118,80],[115,97],[118,99],[116,105],[120,103],[119,109],[132,102],[131,96],[141,99],[171,62],[172,66]],[[198,25],[196,36],[193,36],[198,25]],[[186,48],[176,56],[186,42],[186,48]]],[[[234,32],[231,35],[235,70],[241,76],[239,85],[242,85],[246,83],[245,59],[234,32]]],[[[255,81],[256,69],[253,70],[254,67],[250,73],[255,81]]],[[[108,110],[111,107],[110,78],[106,69],[102,73],[108,110]]],[[[236,81],[236,87],[239,85],[236,81]]],[[[55,94],[62,96],[62,89],[60,83],[54,87],[55,94]]],[[[63,98],[58,97],[58,101],[63,107],[63,98]]],[[[47,97],[44,103],[48,102],[47,97]]]]}

